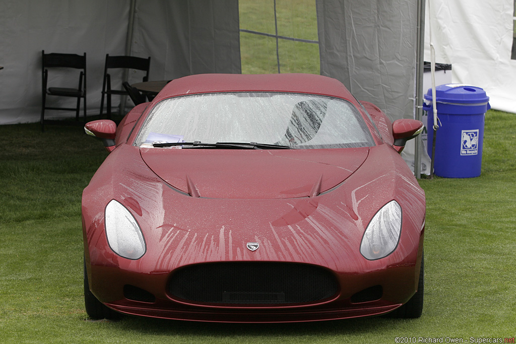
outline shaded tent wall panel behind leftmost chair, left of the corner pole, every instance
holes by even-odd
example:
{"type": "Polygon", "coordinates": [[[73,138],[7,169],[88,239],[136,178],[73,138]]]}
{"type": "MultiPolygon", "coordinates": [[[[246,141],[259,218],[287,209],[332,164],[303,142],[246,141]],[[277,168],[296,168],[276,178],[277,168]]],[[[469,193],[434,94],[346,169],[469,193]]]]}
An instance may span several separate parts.
{"type": "MultiPolygon", "coordinates": [[[[95,108],[100,107],[106,53],[124,53],[126,4],[125,0],[4,0],[0,11],[0,65],[4,67],[0,71],[0,124],[39,121],[42,50],[87,53],[88,113],[98,113],[95,108]]],[[[58,106],[74,103],[73,99],[53,101],[59,102],[58,106]]],[[[62,116],[74,114],[48,113],[48,118],[62,116]]]]}

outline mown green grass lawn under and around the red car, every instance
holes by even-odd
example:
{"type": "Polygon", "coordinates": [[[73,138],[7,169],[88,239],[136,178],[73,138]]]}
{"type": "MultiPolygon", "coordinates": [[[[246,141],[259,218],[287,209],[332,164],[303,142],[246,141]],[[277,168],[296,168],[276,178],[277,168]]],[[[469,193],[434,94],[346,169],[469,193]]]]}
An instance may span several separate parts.
{"type": "Polygon", "coordinates": [[[489,111],[482,174],[421,180],[427,195],[425,307],[415,320],[214,324],[86,321],[82,189],[107,153],[75,126],[0,126],[0,342],[395,342],[513,337],[516,115],[489,111]]]}

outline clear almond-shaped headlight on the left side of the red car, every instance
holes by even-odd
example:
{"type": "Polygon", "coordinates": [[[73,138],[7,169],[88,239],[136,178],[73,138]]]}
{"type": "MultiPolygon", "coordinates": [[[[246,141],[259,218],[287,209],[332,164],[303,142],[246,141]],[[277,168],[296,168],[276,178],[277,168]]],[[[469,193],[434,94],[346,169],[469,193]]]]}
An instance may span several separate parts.
{"type": "Polygon", "coordinates": [[[138,259],[145,253],[145,240],[135,218],[120,202],[112,200],[105,212],[109,247],[119,256],[138,259]]]}

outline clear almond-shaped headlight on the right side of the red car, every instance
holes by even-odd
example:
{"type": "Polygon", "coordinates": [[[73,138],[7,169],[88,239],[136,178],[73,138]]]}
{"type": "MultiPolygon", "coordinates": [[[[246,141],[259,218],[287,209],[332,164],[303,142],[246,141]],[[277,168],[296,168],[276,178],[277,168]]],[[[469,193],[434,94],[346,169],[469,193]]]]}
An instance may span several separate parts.
{"type": "Polygon", "coordinates": [[[391,254],[398,245],[401,232],[401,207],[396,201],[385,204],[367,225],[360,253],[369,260],[391,254]]]}

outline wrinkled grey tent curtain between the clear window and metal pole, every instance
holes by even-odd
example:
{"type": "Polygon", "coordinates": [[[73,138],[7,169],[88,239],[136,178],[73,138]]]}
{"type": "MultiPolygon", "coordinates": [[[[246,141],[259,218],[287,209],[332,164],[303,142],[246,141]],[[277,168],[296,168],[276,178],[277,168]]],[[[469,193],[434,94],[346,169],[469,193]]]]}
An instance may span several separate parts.
{"type": "Polygon", "coordinates": [[[413,118],[416,2],[317,0],[321,74],[391,120],[413,118]]]}

